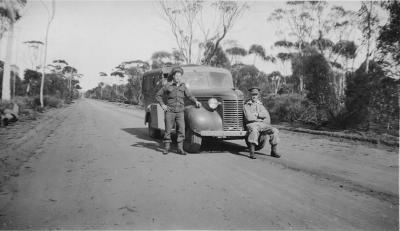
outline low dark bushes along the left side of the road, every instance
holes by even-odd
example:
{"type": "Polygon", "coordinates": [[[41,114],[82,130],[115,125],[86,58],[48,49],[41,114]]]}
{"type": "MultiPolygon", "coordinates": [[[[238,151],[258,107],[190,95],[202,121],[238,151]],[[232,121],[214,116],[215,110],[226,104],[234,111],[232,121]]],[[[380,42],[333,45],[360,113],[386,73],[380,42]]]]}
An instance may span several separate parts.
{"type": "MultiPolygon", "coordinates": [[[[11,98],[10,100],[0,101],[2,116],[5,116],[4,112],[7,109],[10,109],[17,116],[35,119],[38,112],[43,112],[49,108],[60,108],[80,97],[79,80],[69,76],[71,70],[76,72],[76,69],[68,66],[66,62],[63,66],[55,65],[55,63],[52,64],[55,68],[45,74],[42,99],[40,97],[42,73],[37,70],[26,69],[21,78],[18,74],[12,72],[11,98]],[[43,104],[41,100],[43,100],[43,104]]],[[[2,64],[0,61],[1,69],[2,64]]],[[[2,93],[2,78],[3,74],[0,73],[0,94],[2,93]]]]}

